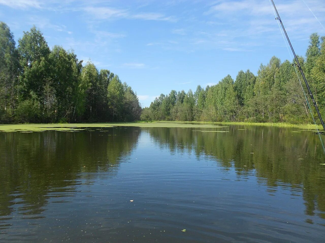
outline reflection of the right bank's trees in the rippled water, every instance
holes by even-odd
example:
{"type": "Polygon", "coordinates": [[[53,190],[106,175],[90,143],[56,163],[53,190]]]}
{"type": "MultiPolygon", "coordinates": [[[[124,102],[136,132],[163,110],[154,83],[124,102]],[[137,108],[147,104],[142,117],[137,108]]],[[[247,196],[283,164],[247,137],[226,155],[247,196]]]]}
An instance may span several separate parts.
{"type": "MultiPolygon", "coordinates": [[[[319,165],[324,163],[324,153],[318,136],[292,133],[287,128],[240,128],[247,130],[238,130],[238,126],[227,128],[229,133],[192,132],[202,130],[197,128],[148,130],[156,142],[172,152],[194,150],[198,157],[205,154],[225,168],[234,167],[238,177],[254,169],[259,183],[289,187],[292,194],[302,190],[307,215],[313,215],[315,209],[325,212],[325,167],[319,165]]],[[[325,218],[325,214],[319,216],[325,218]]]]}

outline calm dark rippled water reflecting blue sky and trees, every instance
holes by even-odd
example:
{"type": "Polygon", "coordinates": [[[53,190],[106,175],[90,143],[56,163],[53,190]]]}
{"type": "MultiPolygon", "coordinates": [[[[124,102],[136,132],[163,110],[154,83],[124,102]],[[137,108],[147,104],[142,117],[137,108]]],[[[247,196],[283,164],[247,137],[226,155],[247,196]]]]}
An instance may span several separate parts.
{"type": "Polygon", "coordinates": [[[0,242],[325,242],[318,136],[193,130],[0,133],[0,242]]]}

